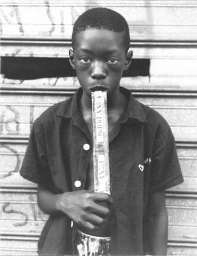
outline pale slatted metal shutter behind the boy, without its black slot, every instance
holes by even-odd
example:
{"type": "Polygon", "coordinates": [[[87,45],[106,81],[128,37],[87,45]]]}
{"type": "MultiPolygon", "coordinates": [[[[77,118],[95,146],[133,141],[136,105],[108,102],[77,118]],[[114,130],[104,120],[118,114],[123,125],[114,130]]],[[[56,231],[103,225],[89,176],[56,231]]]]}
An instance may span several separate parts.
{"type": "MultiPolygon", "coordinates": [[[[124,77],[121,85],[172,127],[185,183],[166,191],[168,255],[197,255],[197,1],[0,0],[2,72],[9,57],[67,58],[73,23],[85,9],[97,6],[124,15],[134,59],[150,60],[148,76],[124,77]]],[[[18,170],[33,121],[79,84],[71,76],[27,80],[3,75],[0,255],[37,255],[47,215],[37,207],[36,185],[23,180],[18,170]]]]}

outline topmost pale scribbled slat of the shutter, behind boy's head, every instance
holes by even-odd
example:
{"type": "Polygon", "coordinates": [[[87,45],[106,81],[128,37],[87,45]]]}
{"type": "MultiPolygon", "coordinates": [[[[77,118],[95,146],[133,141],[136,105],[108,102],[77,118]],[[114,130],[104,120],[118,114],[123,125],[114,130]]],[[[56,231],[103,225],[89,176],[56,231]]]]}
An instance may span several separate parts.
{"type": "MultiPolygon", "coordinates": [[[[38,6],[37,9],[34,4],[24,7],[17,4],[13,4],[12,7],[2,5],[0,31],[11,37],[36,35],[61,37],[62,39],[66,37],[70,40],[76,18],[86,9],[98,5],[102,4],[98,4],[98,1],[91,1],[91,5],[88,5],[88,2],[84,2],[83,5],[75,2],[73,6],[70,4],[66,6],[65,2],[64,5],[57,3],[54,6],[50,5],[48,0],[45,0],[44,4],[38,6]],[[38,18],[35,19],[35,17],[38,18]]],[[[192,5],[190,8],[187,6],[178,8],[179,1],[177,1],[176,5],[166,8],[162,5],[156,7],[154,1],[150,1],[148,6],[133,5],[131,2],[131,5],[124,7],[121,2],[117,2],[116,7],[113,4],[108,4],[108,7],[124,15],[130,25],[133,40],[195,40],[197,28],[192,24],[197,22],[197,12],[192,5]]]]}

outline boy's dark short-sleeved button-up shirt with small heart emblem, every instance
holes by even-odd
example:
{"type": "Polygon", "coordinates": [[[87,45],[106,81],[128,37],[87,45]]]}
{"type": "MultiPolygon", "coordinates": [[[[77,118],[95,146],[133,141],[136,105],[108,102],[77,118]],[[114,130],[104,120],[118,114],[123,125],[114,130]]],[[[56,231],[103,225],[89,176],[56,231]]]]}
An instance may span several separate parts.
{"type": "MultiPolygon", "coordinates": [[[[111,254],[144,251],[144,219],[148,194],[183,181],[169,124],[153,109],[134,100],[128,104],[109,142],[112,221],[111,254]]],[[[53,105],[35,120],[20,170],[22,177],[53,191],[83,190],[93,145],[79,101],[73,97],[53,105]],[[87,147],[84,146],[88,144],[87,147]],[[77,181],[77,183],[76,183],[77,181]],[[76,185],[77,184],[77,185],[76,185]]],[[[40,254],[71,254],[76,225],[63,213],[50,216],[38,243],[40,254]]]]}

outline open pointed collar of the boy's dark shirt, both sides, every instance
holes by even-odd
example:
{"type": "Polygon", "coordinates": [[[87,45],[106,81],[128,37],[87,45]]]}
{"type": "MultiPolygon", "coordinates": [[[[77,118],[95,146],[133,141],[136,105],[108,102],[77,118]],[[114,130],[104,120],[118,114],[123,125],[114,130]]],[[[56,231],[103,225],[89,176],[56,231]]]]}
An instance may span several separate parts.
{"type": "MultiPolygon", "coordinates": [[[[137,100],[134,99],[133,94],[123,87],[120,87],[120,91],[128,99],[128,104],[125,112],[122,114],[122,119],[137,120],[141,123],[146,123],[146,115],[144,109],[137,100]]],[[[82,96],[82,88],[77,89],[76,93],[69,100],[64,101],[56,110],[56,116],[72,118],[74,114],[80,113],[79,101],[82,96]]]]}

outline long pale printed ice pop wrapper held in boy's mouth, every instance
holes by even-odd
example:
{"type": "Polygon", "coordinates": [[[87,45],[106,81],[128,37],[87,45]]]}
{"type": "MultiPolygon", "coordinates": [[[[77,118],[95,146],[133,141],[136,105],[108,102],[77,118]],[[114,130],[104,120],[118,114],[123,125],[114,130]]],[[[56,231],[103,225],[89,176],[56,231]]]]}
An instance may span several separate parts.
{"type": "Polygon", "coordinates": [[[96,192],[110,194],[106,91],[92,91],[93,173],[96,192]]]}

